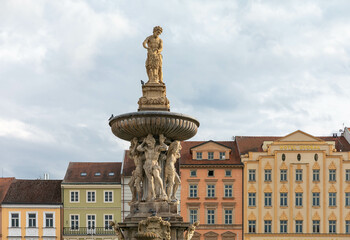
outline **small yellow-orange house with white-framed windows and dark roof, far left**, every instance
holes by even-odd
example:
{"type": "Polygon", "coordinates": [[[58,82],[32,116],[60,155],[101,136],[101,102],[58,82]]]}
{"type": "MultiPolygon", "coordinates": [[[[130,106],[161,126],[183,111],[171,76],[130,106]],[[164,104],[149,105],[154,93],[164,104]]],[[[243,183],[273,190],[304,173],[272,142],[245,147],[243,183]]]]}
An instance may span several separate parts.
{"type": "Polygon", "coordinates": [[[14,180],[2,202],[3,239],[61,239],[61,181],[14,180]]]}

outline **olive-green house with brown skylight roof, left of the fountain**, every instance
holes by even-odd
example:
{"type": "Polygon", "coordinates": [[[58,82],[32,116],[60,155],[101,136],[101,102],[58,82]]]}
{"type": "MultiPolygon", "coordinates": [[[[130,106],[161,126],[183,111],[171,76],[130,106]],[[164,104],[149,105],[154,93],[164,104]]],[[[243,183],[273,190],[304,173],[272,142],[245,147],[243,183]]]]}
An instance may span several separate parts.
{"type": "Polygon", "coordinates": [[[64,239],[115,239],[121,221],[120,162],[71,162],[62,182],[64,239]]]}

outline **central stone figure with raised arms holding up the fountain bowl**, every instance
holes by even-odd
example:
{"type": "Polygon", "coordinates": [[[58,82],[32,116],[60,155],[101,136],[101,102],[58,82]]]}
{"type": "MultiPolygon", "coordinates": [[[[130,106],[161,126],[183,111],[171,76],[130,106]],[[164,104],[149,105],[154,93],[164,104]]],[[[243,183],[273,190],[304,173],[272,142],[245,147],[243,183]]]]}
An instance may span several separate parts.
{"type": "Polygon", "coordinates": [[[167,200],[167,195],[164,191],[163,182],[160,178],[161,168],[158,165],[158,158],[162,151],[166,151],[168,146],[164,143],[165,137],[163,134],[159,135],[159,145],[156,145],[156,140],[152,134],[148,134],[143,142],[137,147],[137,151],[144,152],[146,161],[143,165],[148,181],[147,201],[156,198],[155,186],[159,187],[160,198],[167,200]]]}

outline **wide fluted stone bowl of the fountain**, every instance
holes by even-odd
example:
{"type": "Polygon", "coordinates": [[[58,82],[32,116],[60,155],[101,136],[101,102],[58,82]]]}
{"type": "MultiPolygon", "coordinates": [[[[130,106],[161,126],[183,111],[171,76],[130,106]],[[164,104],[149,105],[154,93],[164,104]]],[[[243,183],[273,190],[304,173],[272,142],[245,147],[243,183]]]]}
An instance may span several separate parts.
{"type": "Polygon", "coordinates": [[[127,141],[146,137],[149,133],[183,141],[196,135],[199,122],[180,113],[140,111],[115,116],[109,126],[115,136],[127,141]]]}

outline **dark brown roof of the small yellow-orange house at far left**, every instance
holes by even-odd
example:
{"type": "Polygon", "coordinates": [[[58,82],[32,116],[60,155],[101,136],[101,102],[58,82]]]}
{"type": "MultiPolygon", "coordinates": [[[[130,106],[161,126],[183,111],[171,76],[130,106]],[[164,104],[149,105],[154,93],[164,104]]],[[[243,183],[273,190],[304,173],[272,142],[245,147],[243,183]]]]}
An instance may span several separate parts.
{"type": "Polygon", "coordinates": [[[62,180],[19,180],[11,183],[3,204],[61,204],[62,180]]]}

